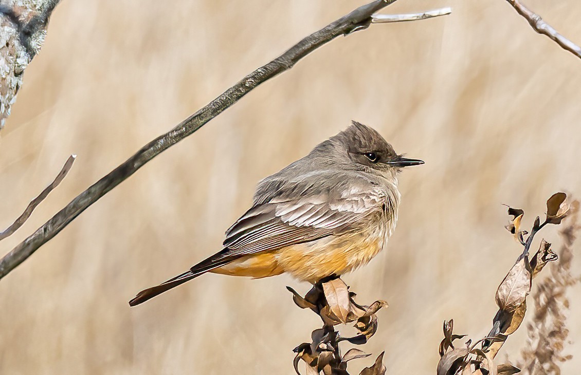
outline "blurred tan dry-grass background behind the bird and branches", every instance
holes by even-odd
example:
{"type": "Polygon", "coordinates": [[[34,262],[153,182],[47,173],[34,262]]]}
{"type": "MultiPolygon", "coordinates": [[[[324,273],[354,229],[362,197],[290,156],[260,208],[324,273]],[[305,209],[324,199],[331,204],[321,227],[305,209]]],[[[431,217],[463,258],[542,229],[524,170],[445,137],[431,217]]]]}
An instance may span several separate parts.
{"type": "MultiPolygon", "coordinates": [[[[0,133],[0,228],[78,158],[1,253],[150,139],[363,3],[60,3],[0,133]]],[[[137,308],[127,301],[220,250],[259,179],[352,119],[426,161],[401,175],[389,251],[344,277],[358,301],[390,303],[363,349],[385,350],[389,374],[435,373],[444,319],[485,335],[521,250],[501,203],[525,208],[530,225],[551,193],[581,197],[581,61],[503,0],[401,0],[384,12],[447,5],[451,16],[325,45],[89,207],[0,282],[0,373],[293,373],[291,349],[319,322],[285,286],[307,284],[207,275],[137,308]]],[[[527,5],[581,43],[581,2],[527,5]]],[[[555,228],[543,236],[560,246],[555,228]]],[[[581,288],[570,293],[566,352],[576,356],[564,374],[581,365],[581,288]]],[[[518,358],[525,339],[522,328],[503,353],[518,358]]]]}

